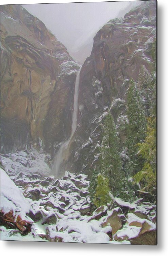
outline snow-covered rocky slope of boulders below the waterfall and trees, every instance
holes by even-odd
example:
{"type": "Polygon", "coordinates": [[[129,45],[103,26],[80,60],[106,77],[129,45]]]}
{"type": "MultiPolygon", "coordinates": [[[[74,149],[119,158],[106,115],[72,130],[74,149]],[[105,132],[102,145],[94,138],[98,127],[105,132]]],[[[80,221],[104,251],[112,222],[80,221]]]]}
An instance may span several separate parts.
{"type": "Polygon", "coordinates": [[[108,207],[91,211],[87,176],[49,176],[47,157],[36,149],[3,155],[1,240],[156,244],[155,204],[110,194],[108,207]]]}

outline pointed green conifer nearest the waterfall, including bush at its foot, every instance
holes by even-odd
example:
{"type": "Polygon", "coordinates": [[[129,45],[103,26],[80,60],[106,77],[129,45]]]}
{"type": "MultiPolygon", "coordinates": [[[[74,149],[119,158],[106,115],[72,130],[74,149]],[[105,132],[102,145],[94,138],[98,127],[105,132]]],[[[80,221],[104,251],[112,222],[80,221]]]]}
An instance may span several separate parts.
{"type": "MultiPolygon", "coordinates": [[[[94,205],[95,203],[98,204],[97,202],[100,201],[98,192],[96,192],[100,181],[98,181],[98,175],[101,174],[99,179],[101,179],[102,186],[105,186],[108,191],[111,190],[114,196],[117,196],[123,190],[124,173],[122,171],[122,162],[118,151],[118,144],[113,116],[108,113],[104,119],[101,147],[98,149],[99,152],[97,154],[99,156],[99,161],[95,166],[90,179],[90,199],[94,205]]],[[[103,191],[105,192],[104,189],[103,191]]]]}

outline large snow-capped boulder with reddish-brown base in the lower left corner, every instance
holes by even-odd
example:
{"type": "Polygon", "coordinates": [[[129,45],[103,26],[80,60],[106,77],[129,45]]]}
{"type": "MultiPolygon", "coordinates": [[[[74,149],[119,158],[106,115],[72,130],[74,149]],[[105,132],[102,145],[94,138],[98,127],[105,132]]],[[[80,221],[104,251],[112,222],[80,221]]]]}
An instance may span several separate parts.
{"type": "Polygon", "coordinates": [[[30,204],[20,189],[1,169],[1,224],[18,228],[22,235],[31,230],[30,204]]]}

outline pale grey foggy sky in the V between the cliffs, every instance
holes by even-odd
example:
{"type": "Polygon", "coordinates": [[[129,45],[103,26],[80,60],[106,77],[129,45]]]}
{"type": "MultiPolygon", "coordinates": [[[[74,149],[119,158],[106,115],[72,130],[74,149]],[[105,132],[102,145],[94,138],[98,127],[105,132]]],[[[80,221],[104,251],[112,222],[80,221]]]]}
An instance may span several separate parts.
{"type": "Polygon", "coordinates": [[[62,42],[80,63],[91,53],[93,37],[110,19],[124,17],[141,1],[22,4],[62,42]]]}

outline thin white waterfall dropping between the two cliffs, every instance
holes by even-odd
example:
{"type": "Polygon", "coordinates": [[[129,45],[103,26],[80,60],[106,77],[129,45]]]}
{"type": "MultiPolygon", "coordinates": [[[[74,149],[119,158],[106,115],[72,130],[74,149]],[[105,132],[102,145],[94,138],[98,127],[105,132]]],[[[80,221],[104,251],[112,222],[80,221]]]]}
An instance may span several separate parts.
{"type": "Polygon", "coordinates": [[[68,145],[71,141],[71,138],[77,128],[77,117],[78,117],[78,96],[79,96],[79,79],[80,79],[80,70],[77,73],[77,77],[75,80],[75,92],[74,92],[74,102],[73,102],[73,114],[72,114],[72,128],[71,128],[71,134],[67,141],[61,144],[53,164],[53,171],[55,177],[60,177],[60,169],[61,164],[63,163],[63,160],[65,159],[65,155],[68,153],[66,152],[68,150],[68,145]]]}

